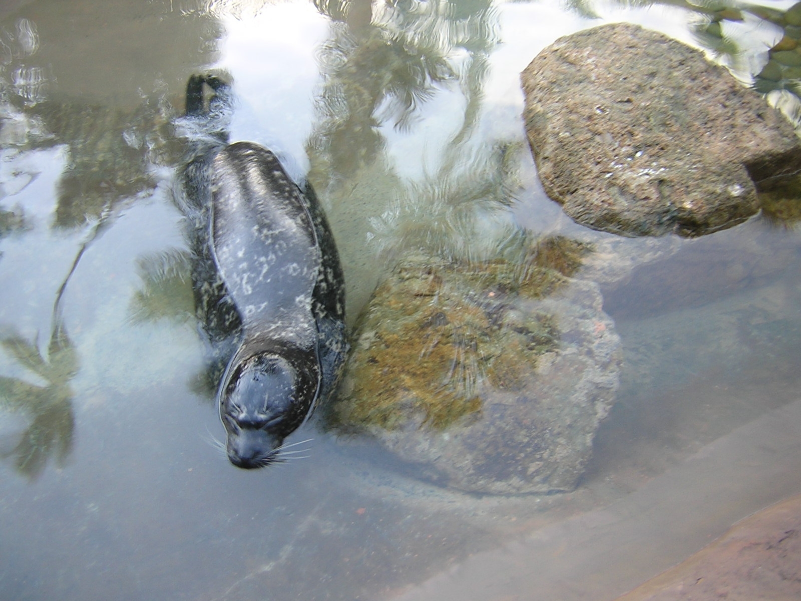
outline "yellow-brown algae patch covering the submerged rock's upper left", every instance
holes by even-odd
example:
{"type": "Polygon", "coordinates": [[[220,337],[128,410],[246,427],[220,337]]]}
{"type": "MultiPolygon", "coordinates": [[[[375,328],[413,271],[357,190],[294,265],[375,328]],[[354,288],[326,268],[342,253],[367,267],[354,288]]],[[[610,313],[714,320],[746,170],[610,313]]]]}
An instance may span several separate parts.
{"type": "Polygon", "coordinates": [[[405,260],[357,326],[336,426],[398,430],[411,418],[418,428],[445,430],[477,417],[481,387],[520,389],[537,357],[557,349],[554,318],[519,305],[566,281],[536,260],[405,260]]]}

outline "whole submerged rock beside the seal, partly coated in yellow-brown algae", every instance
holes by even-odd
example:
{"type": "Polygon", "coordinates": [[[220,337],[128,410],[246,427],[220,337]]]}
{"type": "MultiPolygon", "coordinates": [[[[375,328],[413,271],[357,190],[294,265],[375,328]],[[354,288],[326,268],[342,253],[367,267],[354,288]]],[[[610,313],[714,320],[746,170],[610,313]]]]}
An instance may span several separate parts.
{"type": "Polygon", "coordinates": [[[619,338],[554,240],[523,262],[402,261],[360,318],[332,425],[461,490],[572,490],[614,402],[619,338]]]}

